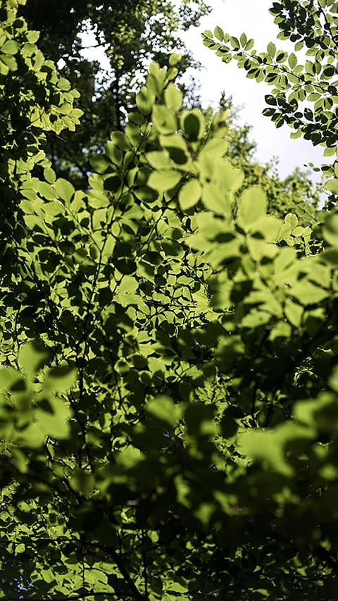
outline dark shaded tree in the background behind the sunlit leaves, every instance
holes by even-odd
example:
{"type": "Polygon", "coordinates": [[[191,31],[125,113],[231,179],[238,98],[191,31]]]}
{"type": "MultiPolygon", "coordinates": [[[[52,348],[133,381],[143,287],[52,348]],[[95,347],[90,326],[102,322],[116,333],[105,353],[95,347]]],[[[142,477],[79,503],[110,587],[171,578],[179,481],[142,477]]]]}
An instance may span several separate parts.
{"type": "MultiPolygon", "coordinates": [[[[92,156],[104,151],[112,130],[124,128],[151,60],[164,66],[168,54],[179,50],[181,73],[196,66],[177,31],[197,25],[208,11],[204,0],[184,0],[180,7],[168,0],[27,0],[20,13],[41,32],[39,49],[81,94],[77,106],[83,116],[75,132],[48,137],[58,176],[84,187],[92,156]],[[88,44],[101,49],[108,70],[84,58],[88,44]]],[[[190,89],[196,93],[196,87],[190,89]]]]}

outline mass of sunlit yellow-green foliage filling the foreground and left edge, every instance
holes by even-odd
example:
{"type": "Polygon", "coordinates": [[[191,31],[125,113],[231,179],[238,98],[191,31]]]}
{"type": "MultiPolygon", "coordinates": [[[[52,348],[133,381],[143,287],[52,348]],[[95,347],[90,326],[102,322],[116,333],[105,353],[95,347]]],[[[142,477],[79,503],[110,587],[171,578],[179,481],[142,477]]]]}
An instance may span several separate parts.
{"type": "Polygon", "coordinates": [[[227,113],[183,108],[172,54],[75,190],[44,136],[76,94],[18,4],[0,0],[1,104],[27,120],[1,129],[1,598],[333,601],[337,180],[330,210],[302,178],[269,190],[227,113]]]}

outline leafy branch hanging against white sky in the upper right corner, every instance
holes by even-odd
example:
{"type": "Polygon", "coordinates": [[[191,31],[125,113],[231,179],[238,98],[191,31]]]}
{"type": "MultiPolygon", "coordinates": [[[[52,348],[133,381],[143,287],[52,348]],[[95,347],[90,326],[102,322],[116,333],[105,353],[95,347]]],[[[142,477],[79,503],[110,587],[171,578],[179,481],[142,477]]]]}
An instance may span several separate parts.
{"type": "MultiPolygon", "coordinates": [[[[326,0],[273,2],[270,13],[280,28],[278,39],[294,42],[287,53],[273,42],[258,53],[253,39],[239,39],[221,27],[204,32],[204,44],[222,61],[232,58],[246,77],[265,81],[273,89],[265,96],[263,115],[275,123],[292,128],[292,138],[304,137],[325,147],[324,156],[337,156],[337,6],[326,0]],[[297,56],[303,50],[305,60],[297,56]]],[[[337,177],[334,168],[323,166],[327,176],[337,177]]],[[[337,185],[327,185],[329,192],[337,185]]]]}

